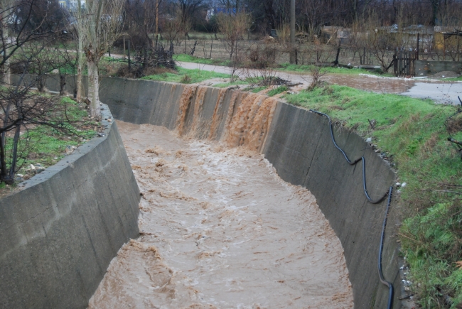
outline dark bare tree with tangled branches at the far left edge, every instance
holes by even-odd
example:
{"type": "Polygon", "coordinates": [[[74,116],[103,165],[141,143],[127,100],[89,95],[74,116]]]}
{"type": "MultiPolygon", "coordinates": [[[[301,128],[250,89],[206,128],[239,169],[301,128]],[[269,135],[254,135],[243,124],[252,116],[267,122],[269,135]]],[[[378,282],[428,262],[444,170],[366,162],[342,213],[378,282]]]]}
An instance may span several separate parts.
{"type": "MultiPolygon", "coordinates": [[[[66,131],[63,105],[33,91],[43,86],[43,77],[56,67],[50,45],[63,26],[63,16],[48,1],[0,2],[1,66],[9,63],[20,74],[18,82],[3,79],[0,87],[0,182],[13,183],[18,162],[26,158],[20,140],[28,127],[52,126],[66,131]],[[47,11],[48,13],[40,13],[47,11]]],[[[27,136],[27,134],[26,134],[27,136]]]]}

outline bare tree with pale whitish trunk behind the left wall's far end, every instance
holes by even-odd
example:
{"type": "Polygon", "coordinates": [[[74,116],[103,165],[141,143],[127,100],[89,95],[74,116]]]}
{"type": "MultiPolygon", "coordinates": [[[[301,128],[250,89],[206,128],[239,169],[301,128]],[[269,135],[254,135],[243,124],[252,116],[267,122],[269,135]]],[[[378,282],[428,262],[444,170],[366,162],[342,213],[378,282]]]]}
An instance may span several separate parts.
{"type": "Polygon", "coordinates": [[[122,30],[124,0],[90,0],[82,16],[83,50],[87,59],[90,114],[101,116],[98,65],[122,30]]]}

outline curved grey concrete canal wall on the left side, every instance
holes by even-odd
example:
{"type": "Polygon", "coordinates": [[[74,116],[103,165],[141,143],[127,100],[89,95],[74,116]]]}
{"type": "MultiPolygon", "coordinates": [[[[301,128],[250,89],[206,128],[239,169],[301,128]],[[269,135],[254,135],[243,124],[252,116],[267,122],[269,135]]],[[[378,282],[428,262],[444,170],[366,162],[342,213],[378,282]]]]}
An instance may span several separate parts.
{"type": "Polygon", "coordinates": [[[0,308],[86,308],[139,235],[138,185],[117,125],[103,124],[106,136],[0,200],[0,308]]]}

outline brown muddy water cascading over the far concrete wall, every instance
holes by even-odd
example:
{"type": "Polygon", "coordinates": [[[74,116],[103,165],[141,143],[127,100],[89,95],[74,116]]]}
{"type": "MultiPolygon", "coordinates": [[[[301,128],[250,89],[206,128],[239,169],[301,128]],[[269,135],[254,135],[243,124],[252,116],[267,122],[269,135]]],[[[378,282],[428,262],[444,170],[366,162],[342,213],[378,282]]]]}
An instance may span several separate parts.
{"type": "Polygon", "coordinates": [[[218,92],[216,102],[207,102],[213,96],[206,97],[206,93],[213,91],[213,88],[205,86],[187,85],[184,87],[178,108],[176,125],[178,134],[187,134],[196,138],[218,138],[230,147],[247,146],[253,151],[261,151],[276,108],[276,99],[262,94],[237,91],[227,96],[230,90],[222,89],[218,92]],[[227,98],[229,102],[226,102],[227,98]],[[226,103],[229,103],[227,112],[222,110],[226,103]],[[191,104],[194,106],[193,111],[189,111],[191,104]],[[204,114],[208,113],[204,109],[211,109],[212,106],[214,107],[213,115],[205,117],[204,114]],[[225,118],[225,124],[220,132],[219,128],[223,118],[225,118]],[[191,124],[188,125],[190,128],[188,133],[186,133],[186,123],[191,124]]]}

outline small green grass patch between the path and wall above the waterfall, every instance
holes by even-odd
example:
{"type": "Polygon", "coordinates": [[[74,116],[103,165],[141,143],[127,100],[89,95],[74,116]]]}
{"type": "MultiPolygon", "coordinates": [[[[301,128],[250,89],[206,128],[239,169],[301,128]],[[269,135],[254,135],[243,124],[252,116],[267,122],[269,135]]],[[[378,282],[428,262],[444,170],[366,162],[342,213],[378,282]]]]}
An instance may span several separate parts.
{"type": "Polygon", "coordinates": [[[231,75],[203,71],[203,70],[188,70],[183,67],[178,67],[177,73],[163,73],[156,75],[149,75],[142,77],[142,80],[160,80],[162,82],[183,82],[184,84],[192,84],[195,82],[203,82],[204,80],[210,80],[211,78],[230,78],[231,75]]]}

